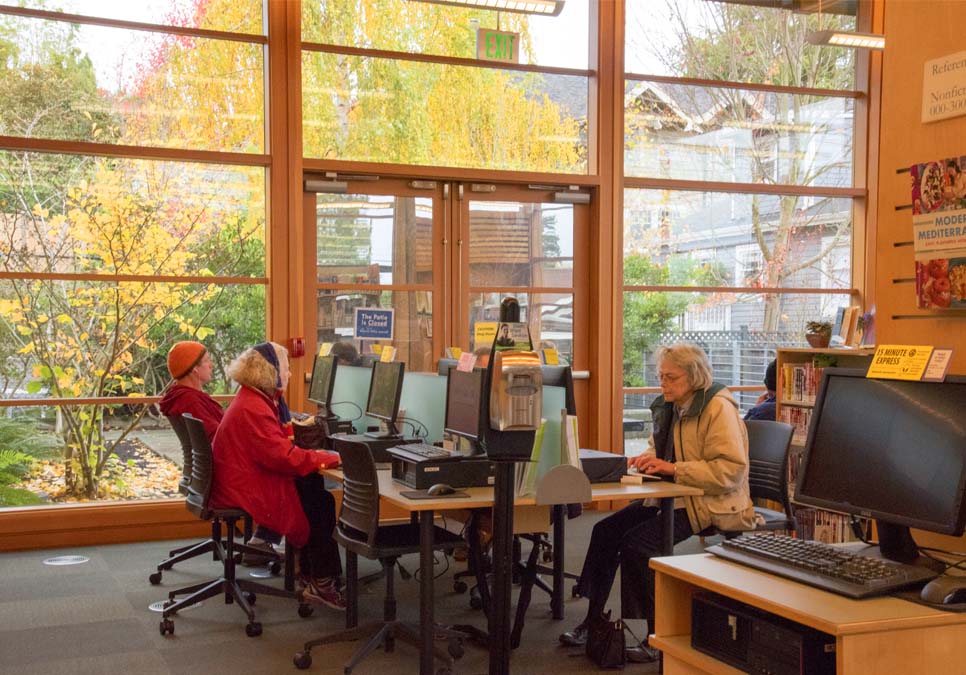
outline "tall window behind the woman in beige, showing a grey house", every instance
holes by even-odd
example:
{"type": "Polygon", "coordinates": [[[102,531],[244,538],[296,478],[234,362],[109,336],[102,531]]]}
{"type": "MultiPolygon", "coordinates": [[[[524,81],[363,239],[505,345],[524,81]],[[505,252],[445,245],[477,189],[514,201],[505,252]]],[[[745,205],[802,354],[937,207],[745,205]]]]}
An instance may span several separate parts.
{"type": "Polygon", "coordinates": [[[806,35],[856,17],[767,4],[627,3],[628,454],[650,432],[657,346],[701,345],[744,408],[775,350],[854,293],[855,52],[806,35]]]}

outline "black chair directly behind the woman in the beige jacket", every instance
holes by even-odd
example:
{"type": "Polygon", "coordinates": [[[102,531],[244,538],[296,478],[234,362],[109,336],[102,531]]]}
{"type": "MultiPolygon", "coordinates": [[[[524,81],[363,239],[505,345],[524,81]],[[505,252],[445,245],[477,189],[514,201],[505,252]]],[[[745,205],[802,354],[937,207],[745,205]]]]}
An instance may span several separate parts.
{"type": "Polygon", "coordinates": [[[795,429],[783,422],[748,420],[748,484],[752,499],[767,499],[782,505],[782,511],[756,506],[755,513],[765,522],[755,528],[763,530],[789,530],[794,532],[798,524],[788,498],[788,448],[795,429]]]}

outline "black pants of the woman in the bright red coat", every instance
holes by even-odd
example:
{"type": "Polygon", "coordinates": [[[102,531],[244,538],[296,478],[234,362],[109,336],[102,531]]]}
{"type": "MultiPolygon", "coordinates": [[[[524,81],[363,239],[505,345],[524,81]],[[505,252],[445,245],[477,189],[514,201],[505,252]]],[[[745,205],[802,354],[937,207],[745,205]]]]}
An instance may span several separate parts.
{"type": "Polygon", "coordinates": [[[332,538],[335,530],[335,498],[325,489],[325,479],[312,472],[295,479],[302,510],[309,520],[309,541],[299,552],[303,576],[337,577],[342,574],[339,545],[332,538]]]}

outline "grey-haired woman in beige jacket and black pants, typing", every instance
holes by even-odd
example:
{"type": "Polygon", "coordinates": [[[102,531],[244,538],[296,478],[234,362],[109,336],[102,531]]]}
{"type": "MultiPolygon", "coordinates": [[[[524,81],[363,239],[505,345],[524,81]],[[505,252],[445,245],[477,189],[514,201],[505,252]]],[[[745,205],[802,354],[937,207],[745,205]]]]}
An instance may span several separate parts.
{"type": "MultiPolygon", "coordinates": [[[[676,344],[657,351],[661,396],[651,405],[654,431],[643,455],[628,460],[642,473],[704,490],[674,504],[674,542],[711,525],[750,529],[755,513],[748,492],[748,435],[738,404],[713,381],[707,355],[697,346],[676,344]]],[[[654,628],[654,584],[648,567],[661,550],[656,505],[635,502],[594,526],[578,588],[590,600],[587,616],[560,636],[568,645],[587,641],[590,621],[600,616],[621,570],[625,619],[647,619],[654,628]]],[[[653,661],[657,650],[645,642],[630,648],[628,660],[653,661]]]]}

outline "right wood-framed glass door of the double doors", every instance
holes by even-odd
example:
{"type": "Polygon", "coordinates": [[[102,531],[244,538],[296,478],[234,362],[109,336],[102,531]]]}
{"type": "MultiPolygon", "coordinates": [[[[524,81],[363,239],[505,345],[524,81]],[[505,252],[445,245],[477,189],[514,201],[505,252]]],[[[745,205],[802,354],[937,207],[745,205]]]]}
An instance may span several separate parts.
{"type": "Polygon", "coordinates": [[[497,321],[501,301],[513,296],[534,346],[586,370],[590,194],[480,183],[455,183],[449,194],[455,343],[488,347],[477,340],[477,324],[497,321]]]}

